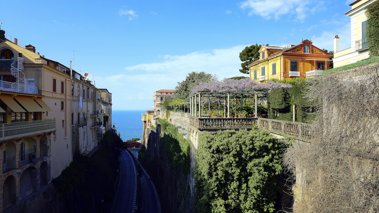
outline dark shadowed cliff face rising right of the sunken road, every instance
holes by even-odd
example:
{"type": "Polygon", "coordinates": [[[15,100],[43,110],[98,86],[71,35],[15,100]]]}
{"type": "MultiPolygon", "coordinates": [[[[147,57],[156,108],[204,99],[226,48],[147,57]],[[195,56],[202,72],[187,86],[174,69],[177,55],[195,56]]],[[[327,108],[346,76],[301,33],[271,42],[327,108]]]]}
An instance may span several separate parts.
{"type": "Polygon", "coordinates": [[[173,166],[168,160],[172,156],[166,156],[164,143],[161,143],[161,137],[170,136],[161,134],[160,125],[152,130],[144,127],[144,131],[147,149],[145,155],[139,155],[139,161],[157,187],[162,212],[192,212],[194,196],[190,189],[190,172],[173,166]]]}

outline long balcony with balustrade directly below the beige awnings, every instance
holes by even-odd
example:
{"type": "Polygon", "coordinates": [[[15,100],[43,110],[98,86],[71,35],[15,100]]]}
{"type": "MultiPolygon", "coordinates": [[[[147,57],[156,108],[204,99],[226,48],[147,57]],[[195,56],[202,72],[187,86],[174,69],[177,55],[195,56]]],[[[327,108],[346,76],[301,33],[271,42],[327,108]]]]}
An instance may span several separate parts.
{"type": "Polygon", "coordinates": [[[0,141],[55,131],[55,119],[0,124],[0,141]]]}

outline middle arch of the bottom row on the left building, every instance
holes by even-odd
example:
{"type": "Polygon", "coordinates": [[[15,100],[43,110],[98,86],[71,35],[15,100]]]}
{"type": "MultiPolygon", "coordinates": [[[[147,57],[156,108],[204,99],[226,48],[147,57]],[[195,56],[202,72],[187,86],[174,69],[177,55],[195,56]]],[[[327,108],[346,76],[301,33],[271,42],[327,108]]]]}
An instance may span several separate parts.
{"type": "Polygon", "coordinates": [[[29,167],[22,172],[20,177],[20,198],[24,199],[28,195],[38,190],[38,172],[34,167],[29,167]]]}

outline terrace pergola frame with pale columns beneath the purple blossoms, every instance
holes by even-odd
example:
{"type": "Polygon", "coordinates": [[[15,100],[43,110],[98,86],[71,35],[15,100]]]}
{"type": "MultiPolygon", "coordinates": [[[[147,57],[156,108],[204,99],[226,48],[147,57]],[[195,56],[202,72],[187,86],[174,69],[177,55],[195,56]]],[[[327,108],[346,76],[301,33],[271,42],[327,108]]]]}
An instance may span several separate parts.
{"type": "Polygon", "coordinates": [[[241,111],[242,111],[242,99],[254,98],[255,99],[255,117],[257,117],[257,103],[258,97],[267,97],[269,94],[269,89],[257,88],[252,92],[210,92],[210,91],[201,91],[197,92],[190,96],[189,108],[192,116],[201,117],[201,99],[206,97],[209,99],[214,98],[224,98],[227,99],[227,117],[230,117],[230,98],[241,99],[241,111]]]}

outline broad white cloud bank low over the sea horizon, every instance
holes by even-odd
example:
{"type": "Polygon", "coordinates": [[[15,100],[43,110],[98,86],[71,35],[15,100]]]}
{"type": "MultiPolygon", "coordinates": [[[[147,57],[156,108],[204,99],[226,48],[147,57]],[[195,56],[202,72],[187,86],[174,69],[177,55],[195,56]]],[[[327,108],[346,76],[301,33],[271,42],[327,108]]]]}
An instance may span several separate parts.
{"type": "MultiPolygon", "coordinates": [[[[153,92],[175,89],[189,72],[217,74],[219,80],[241,76],[238,57],[247,45],[226,49],[193,52],[186,55],[163,55],[160,63],[136,64],[125,67],[125,74],[96,80],[96,86],[113,93],[113,109],[137,110],[153,107],[153,92]]],[[[247,76],[247,75],[245,75],[247,76]]]]}

